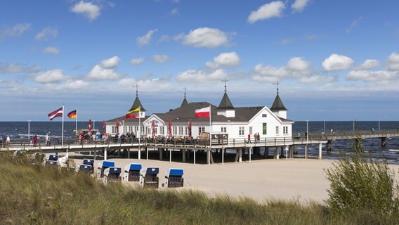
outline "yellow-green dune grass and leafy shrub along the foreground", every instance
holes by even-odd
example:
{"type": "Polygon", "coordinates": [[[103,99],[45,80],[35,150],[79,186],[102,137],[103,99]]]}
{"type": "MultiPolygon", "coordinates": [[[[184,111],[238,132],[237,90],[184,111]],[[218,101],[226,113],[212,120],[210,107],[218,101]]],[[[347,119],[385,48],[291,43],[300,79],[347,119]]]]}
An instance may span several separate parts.
{"type": "MultiPolygon", "coordinates": [[[[340,163],[351,164],[340,161],[335,170],[327,172],[332,184],[339,181],[334,172],[345,175],[346,167],[340,163]],[[342,167],[344,171],[339,170],[342,167]]],[[[369,171],[360,171],[360,175],[365,175],[362,172],[369,171]]],[[[384,170],[378,172],[382,175],[384,170]]],[[[352,174],[345,176],[359,180],[352,174]]],[[[369,180],[359,185],[367,189],[368,184],[369,180]]],[[[379,210],[385,207],[382,205],[358,207],[358,203],[342,202],[340,199],[347,193],[334,186],[326,205],[303,205],[295,200],[266,200],[259,204],[250,198],[209,198],[199,191],[105,186],[89,174],[32,164],[25,156],[0,155],[0,187],[0,224],[398,224],[399,221],[395,208],[397,188],[391,189],[392,195],[379,193],[382,197],[396,196],[391,198],[396,205],[386,206],[391,209],[389,213],[379,210]],[[334,201],[347,207],[335,207],[334,201]]],[[[381,202],[385,204],[385,200],[381,202]]]]}

